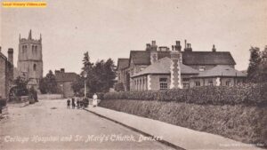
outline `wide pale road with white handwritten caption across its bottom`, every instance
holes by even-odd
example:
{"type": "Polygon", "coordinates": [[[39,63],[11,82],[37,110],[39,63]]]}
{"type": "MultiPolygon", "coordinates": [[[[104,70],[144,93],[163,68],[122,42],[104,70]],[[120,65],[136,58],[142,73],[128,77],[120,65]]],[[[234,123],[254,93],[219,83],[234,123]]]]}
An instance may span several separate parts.
{"type": "Polygon", "coordinates": [[[66,104],[66,99],[53,99],[9,107],[8,116],[0,120],[0,149],[174,149],[66,104]]]}

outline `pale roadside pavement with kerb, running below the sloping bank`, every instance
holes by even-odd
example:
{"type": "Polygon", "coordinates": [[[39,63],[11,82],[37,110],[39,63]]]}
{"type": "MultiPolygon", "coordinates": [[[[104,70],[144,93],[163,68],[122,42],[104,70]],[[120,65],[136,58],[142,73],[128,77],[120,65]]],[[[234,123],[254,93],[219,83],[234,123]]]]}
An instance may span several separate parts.
{"type": "Polygon", "coordinates": [[[142,134],[153,137],[161,137],[161,142],[166,145],[183,149],[227,149],[227,150],[260,150],[262,148],[255,145],[244,144],[230,138],[224,138],[198,130],[190,130],[166,122],[159,122],[149,118],[117,112],[104,107],[85,108],[87,111],[98,114],[113,122],[128,127],[129,129],[139,131],[142,134]]]}

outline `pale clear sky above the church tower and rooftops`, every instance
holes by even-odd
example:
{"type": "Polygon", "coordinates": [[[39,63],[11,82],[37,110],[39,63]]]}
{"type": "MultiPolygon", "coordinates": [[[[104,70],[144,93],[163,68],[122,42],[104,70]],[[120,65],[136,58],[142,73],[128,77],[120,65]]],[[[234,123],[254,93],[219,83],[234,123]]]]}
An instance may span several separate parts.
{"type": "MultiPolygon", "coordinates": [[[[247,69],[251,46],[267,45],[267,0],[46,0],[46,8],[0,6],[0,45],[14,49],[19,35],[42,34],[44,75],[65,68],[80,73],[85,51],[91,61],[128,58],[156,40],[171,47],[187,39],[193,51],[231,51],[247,69]]],[[[182,44],[182,47],[184,45],[182,44]]]]}

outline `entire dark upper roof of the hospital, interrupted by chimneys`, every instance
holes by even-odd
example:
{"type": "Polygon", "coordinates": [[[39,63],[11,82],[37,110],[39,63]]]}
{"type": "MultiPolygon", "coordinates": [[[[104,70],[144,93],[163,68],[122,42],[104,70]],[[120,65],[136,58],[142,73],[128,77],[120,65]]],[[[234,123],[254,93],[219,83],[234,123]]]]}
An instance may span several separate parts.
{"type": "MultiPolygon", "coordinates": [[[[170,51],[158,51],[158,59],[170,58],[170,51]]],[[[135,65],[150,65],[150,51],[131,51],[135,65]]],[[[229,51],[182,51],[185,65],[236,65],[229,51]]]]}

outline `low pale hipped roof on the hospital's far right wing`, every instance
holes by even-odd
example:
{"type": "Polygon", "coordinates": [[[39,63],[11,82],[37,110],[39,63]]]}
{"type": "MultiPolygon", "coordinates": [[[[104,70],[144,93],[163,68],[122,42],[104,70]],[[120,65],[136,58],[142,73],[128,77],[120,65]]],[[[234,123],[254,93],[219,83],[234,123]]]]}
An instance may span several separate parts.
{"type": "Polygon", "coordinates": [[[195,77],[209,77],[209,76],[239,76],[246,77],[247,75],[229,66],[218,65],[212,69],[204,72],[199,72],[195,77]]]}

